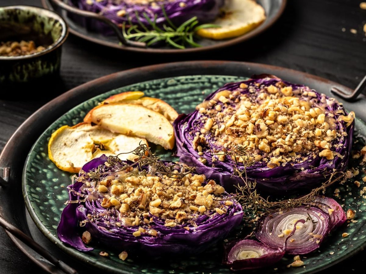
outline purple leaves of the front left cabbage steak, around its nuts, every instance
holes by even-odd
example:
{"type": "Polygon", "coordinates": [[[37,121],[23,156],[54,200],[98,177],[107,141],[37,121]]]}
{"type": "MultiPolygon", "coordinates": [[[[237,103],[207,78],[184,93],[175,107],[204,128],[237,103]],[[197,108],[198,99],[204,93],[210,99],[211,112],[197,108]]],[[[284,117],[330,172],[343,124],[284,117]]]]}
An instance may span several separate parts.
{"type": "MultiPolygon", "coordinates": [[[[78,178],[74,180],[74,184],[68,186],[70,201],[61,214],[57,235],[61,241],[77,250],[93,250],[93,248],[85,246],[81,239],[83,231],[88,231],[91,234],[92,243],[100,243],[118,251],[127,250],[152,256],[177,253],[197,254],[223,239],[242,221],[242,207],[235,199],[230,199],[231,202],[219,201],[224,213],[210,209],[202,214],[194,215],[197,217],[190,219],[191,222],[178,223],[174,227],[167,227],[166,219],[156,217],[151,212],[145,216],[147,219],[150,218],[148,224],[144,219],[139,225],[125,226],[123,220],[120,220],[118,210],[102,206],[103,196],[98,193],[96,197],[96,191],[94,191],[96,184],[88,184],[92,182],[89,177],[91,171],[97,169],[103,172],[120,170],[120,163],[105,164],[107,160],[106,156],[91,160],[84,165],[78,178]],[[154,230],[157,235],[153,236],[143,232],[141,236],[136,237],[133,233],[139,227],[149,229],[149,231],[154,230]]],[[[164,163],[171,164],[171,162],[164,163]]],[[[178,169],[182,167],[181,165],[176,166],[178,169]]],[[[151,167],[145,166],[142,169],[154,174],[151,167]]],[[[204,185],[205,182],[202,183],[202,186],[204,185]]],[[[231,196],[222,193],[220,197],[227,199],[231,196]]]]}

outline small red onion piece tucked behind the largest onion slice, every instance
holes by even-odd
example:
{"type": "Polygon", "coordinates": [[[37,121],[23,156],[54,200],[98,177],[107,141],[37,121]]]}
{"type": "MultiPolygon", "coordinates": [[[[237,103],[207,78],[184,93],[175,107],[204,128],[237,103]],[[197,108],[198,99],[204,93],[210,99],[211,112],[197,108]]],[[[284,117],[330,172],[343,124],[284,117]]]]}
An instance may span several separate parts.
{"type": "Polygon", "coordinates": [[[329,230],[335,227],[339,227],[347,220],[346,213],[341,205],[332,198],[325,196],[318,196],[314,202],[310,203],[313,206],[317,206],[325,213],[329,214],[329,230]]]}

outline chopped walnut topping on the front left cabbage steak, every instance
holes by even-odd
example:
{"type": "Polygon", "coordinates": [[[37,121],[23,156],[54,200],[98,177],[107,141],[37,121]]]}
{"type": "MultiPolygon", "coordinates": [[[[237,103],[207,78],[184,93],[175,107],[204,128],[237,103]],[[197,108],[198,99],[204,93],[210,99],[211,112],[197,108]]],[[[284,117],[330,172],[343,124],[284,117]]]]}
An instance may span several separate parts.
{"type": "Polygon", "coordinates": [[[154,216],[163,219],[165,227],[196,226],[199,215],[225,214],[233,205],[229,200],[219,201],[224,188],[214,180],[207,182],[205,175],[188,172],[183,177],[178,174],[168,177],[134,168],[117,171],[107,178],[84,184],[83,188],[89,189],[89,200],[98,199],[100,205],[108,209],[105,213],[89,214],[89,220],[102,217],[100,214],[111,214],[119,227],[138,226],[132,233],[135,237],[158,235],[150,226],[154,216]]]}

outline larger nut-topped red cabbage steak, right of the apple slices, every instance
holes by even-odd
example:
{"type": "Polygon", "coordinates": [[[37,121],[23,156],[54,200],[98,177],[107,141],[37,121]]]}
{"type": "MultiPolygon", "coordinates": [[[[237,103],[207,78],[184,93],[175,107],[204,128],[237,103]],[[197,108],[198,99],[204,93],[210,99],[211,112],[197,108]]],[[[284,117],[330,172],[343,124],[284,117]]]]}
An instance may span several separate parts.
{"type": "MultiPolygon", "coordinates": [[[[247,131],[253,132],[250,135],[247,134],[245,128],[239,128],[239,126],[235,124],[233,126],[225,127],[225,123],[221,123],[220,126],[217,121],[219,121],[219,119],[223,121],[226,121],[225,119],[228,119],[225,118],[228,116],[225,115],[225,111],[240,110],[239,108],[242,107],[242,99],[240,96],[246,98],[246,103],[252,103],[259,109],[261,107],[261,104],[263,103],[261,94],[272,96],[271,92],[275,89],[277,89],[278,93],[280,93],[280,91],[283,91],[284,93],[284,95],[282,95],[283,97],[279,97],[280,99],[276,99],[279,100],[278,102],[293,100],[291,98],[299,98],[298,102],[305,102],[304,104],[308,104],[308,106],[311,107],[312,112],[308,111],[307,109],[302,111],[303,113],[308,115],[307,117],[311,118],[310,114],[315,117],[315,119],[313,119],[315,122],[309,118],[309,121],[306,121],[307,123],[317,123],[317,119],[320,117],[320,115],[318,116],[318,113],[315,113],[314,109],[323,113],[324,116],[323,114],[321,114],[322,117],[320,117],[325,119],[326,122],[324,130],[320,130],[320,135],[323,135],[321,135],[320,137],[314,137],[314,139],[318,138],[317,143],[313,145],[314,151],[302,152],[302,150],[300,149],[300,151],[296,151],[296,153],[296,147],[303,148],[311,145],[309,141],[307,141],[307,138],[315,136],[315,134],[318,134],[319,132],[315,131],[315,134],[314,132],[310,132],[311,130],[309,130],[308,132],[301,132],[299,136],[305,141],[293,140],[292,145],[291,143],[289,143],[290,145],[285,145],[285,142],[287,144],[286,140],[291,137],[292,132],[295,130],[294,128],[292,128],[292,130],[287,129],[287,133],[284,133],[283,136],[280,137],[278,140],[276,140],[276,138],[274,138],[274,140],[271,140],[270,138],[272,138],[272,136],[266,137],[267,140],[260,139],[266,142],[263,144],[259,144],[259,146],[264,146],[264,149],[261,147],[263,151],[259,150],[256,147],[255,149],[257,149],[257,151],[254,150],[247,152],[248,157],[251,157],[255,153],[257,153],[257,156],[259,157],[259,160],[254,159],[254,164],[246,168],[247,179],[249,179],[250,181],[255,180],[257,182],[257,187],[260,190],[268,192],[270,191],[272,194],[283,194],[284,191],[293,192],[294,190],[299,189],[308,190],[314,188],[315,186],[318,186],[321,182],[324,182],[326,180],[324,176],[325,172],[334,172],[335,170],[344,171],[347,167],[352,145],[352,135],[354,131],[354,113],[350,113],[347,115],[346,110],[341,104],[337,102],[337,100],[335,100],[334,98],[329,98],[324,94],[320,94],[315,90],[310,89],[309,87],[300,84],[292,84],[287,81],[271,77],[249,79],[238,83],[226,84],[219,90],[210,94],[205,99],[205,101],[196,108],[193,113],[190,113],[188,115],[180,115],[174,122],[177,155],[180,157],[180,161],[188,165],[197,166],[197,172],[205,174],[207,178],[221,182],[221,184],[225,187],[227,191],[234,190],[232,188],[232,186],[234,185],[243,184],[241,178],[233,175],[235,166],[234,158],[228,157],[227,155],[224,160],[222,160],[222,158],[220,160],[220,155],[225,152],[230,152],[232,148],[229,148],[229,146],[225,146],[226,143],[223,144],[224,141],[219,142],[221,140],[218,140],[216,135],[223,138],[225,136],[230,137],[230,135],[227,134],[228,128],[231,131],[234,131],[234,133],[236,133],[239,138],[241,136],[247,136],[241,137],[246,139],[244,141],[240,141],[238,144],[238,147],[243,147],[243,143],[246,140],[249,142],[251,137],[253,137],[255,134],[258,135],[258,132],[262,134],[267,133],[268,130],[262,130],[262,123],[255,122],[254,128],[250,128],[247,131]],[[234,94],[238,93],[239,95],[234,96],[234,94]],[[285,97],[286,95],[292,97],[285,97]],[[238,104],[238,102],[240,102],[240,104],[238,104]],[[213,114],[208,114],[210,112],[213,114]],[[221,117],[223,118],[219,117],[220,114],[223,114],[221,115],[221,117]],[[208,120],[210,118],[214,120],[213,126],[212,121],[210,121],[211,123],[208,123],[208,120]],[[215,124],[215,122],[217,122],[217,124],[215,124]],[[207,128],[210,128],[210,130],[207,130],[207,128]],[[247,135],[245,135],[244,133],[247,135]],[[334,134],[336,136],[330,137],[330,139],[333,138],[333,140],[329,141],[330,143],[327,144],[328,146],[330,145],[330,149],[325,149],[328,148],[328,146],[324,146],[322,140],[329,138],[330,134],[334,134]],[[277,147],[278,149],[284,150],[284,153],[281,152],[282,154],[280,154],[280,156],[283,158],[268,156],[269,153],[266,152],[266,148],[270,150],[271,145],[275,144],[279,140],[283,141],[284,144],[283,146],[277,147]],[[300,142],[301,144],[299,144],[300,142]],[[288,149],[289,151],[287,152],[285,149],[288,149]],[[319,156],[320,151],[324,153],[321,154],[324,156],[319,156]],[[285,157],[288,157],[289,155],[295,155],[291,157],[298,157],[299,160],[285,160],[285,157]],[[268,159],[266,157],[268,157],[268,159]]],[[[275,90],[275,92],[277,91],[275,90]]],[[[273,96],[277,95],[275,94],[273,96]]],[[[283,103],[279,103],[278,105],[279,107],[282,107],[283,103]]],[[[276,106],[272,105],[271,107],[276,109],[276,106]]],[[[302,106],[299,107],[302,108],[302,106]]],[[[250,109],[250,106],[248,106],[248,108],[250,111],[253,110],[250,109]]],[[[246,110],[248,110],[248,108],[246,110]]],[[[280,109],[279,111],[282,110],[280,109]]],[[[290,107],[285,109],[284,111],[290,111],[290,107]]],[[[305,117],[305,114],[304,116],[299,116],[298,113],[300,112],[296,112],[296,110],[291,111],[293,111],[291,114],[292,117],[295,117],[295,115],[298,115],[298,117],[300,118],[305,117]]],[[[244,113],[244,115],[241,115],[244,116],[244,121],[247,121],[248,119],[254,119],[253,117],[246,117],[245,112],[242,113],[244,113]]],[[[271,113],[270,111],[264,109],[261,115],[262,117],[259,116],[256,119],[269,119],[268,117],[271,115],[271,113]]],[[[277,114],[275,113],[274,115],[277,114]]],[[[285,117],[285,119],[292,119],[291,115],[288,115],[288,117],[285,117]]],[[[239,115],[237,116],[239,117],[239,115]]],[[[271,128],[272,126],[276,126],[276,123],[277,121],[279,121],[278,119],[280,118],[282,119],[283,117],[277,115],[276,118],[274,118],[275,121],[264,121],[263,127],[266,129],[271,128]],[[274,122],[275,124],[270,124],[272,122],[274,122]]],[[[242,123],[241,121],[239,121],[239,119],[237,120],[238,124],[239,122],[242,123]]],[[[301,119],[299,120],[302,123],[301,119]]],[[[230,121],[228,121],[228,123],[230,123],[230,121]]],[[[279,124],[280,123],[278,122],[277,125],[279,124]]],[[[279,128],[279,126],[277,128],[279,128]]],[[[302,128],[300,124],[298,128],[302,128]]],[[[252,145],[252,143],[250,142],[249,145],[252,145]]],[[[253,146],[257,146],[257,144],[253,144],[253,146]]],[[[247,147],[249,146],[247,145],[247,147]]],[[[237,163],[237,167],[243,170],[242,163],[237,163]]]]}

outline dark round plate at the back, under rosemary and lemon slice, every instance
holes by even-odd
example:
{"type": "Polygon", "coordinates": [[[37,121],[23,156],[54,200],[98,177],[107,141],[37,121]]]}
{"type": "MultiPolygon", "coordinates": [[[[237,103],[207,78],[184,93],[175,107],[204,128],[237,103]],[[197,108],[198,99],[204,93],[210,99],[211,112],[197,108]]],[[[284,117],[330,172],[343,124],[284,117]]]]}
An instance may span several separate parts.
{"type": "Polygon", "coordinates": [[[266,20],[257,28],[246,33],[240,37],[227,39],[223,41],[214,41],[210,39],[202,38],[199,43],[202,47],[194,47],[194,48],[187,48],[187,49],[173,49],[171,47],[164,47],[164,48],[138,48],[138,47],[127,47],[119,45],[119,41],[114,36],[105,36],[93,31],[87,30],[85,27],[75,23],[73,20],[67,17],[66,12],[60,11],[59,9],[55,8],[53,4],[51,4],[50,0],[41,0],[42,5],[44,8],[48,8],[51,10],[55,10],[59,12],[67,22],[70,27],[70,33],[75,34],[78,37],[91,41],[93,43],[97,43],[100,45],[114,47],[120,50],[129,50],[135,52],[147,52],[147,53],[190,53],[190,52],[200,52],[205,50],[213,50],[213,49],[220,49],[223,47],[235,45],[246,41],[259,33],[262,33],[267,28],[272,26],[276,20],[280,17],[282,12],[285,9],[287,0],[258,0],[257,2],[262,5],[266,12],[266,20]]]}

